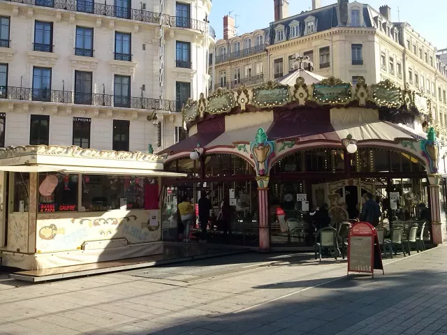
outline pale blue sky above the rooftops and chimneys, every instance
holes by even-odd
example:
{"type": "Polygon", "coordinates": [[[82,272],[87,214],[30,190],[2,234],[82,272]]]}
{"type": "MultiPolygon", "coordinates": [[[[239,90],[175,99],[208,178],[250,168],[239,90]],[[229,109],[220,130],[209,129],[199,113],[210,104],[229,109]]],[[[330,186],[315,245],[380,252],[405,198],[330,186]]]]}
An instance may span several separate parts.
{"type": "MultiPolygon", "coordinates": [[[[321,6],[328,6],[337,0],[321,0],[321,6]]],[[[349,2],[353,2],[352,0],[349,2]]],[[[408,22],[411,27],[438,49],[447,47],[446,0],[368,0],[367,3],[376,10],[387,4],[391,8],[391,20],[408,22]],[[399,9],[399,15],[397,14],[399,9]]],[[[288,15],[296,15],[303,10],[312,9],[312,0],[288,0],[288,15]]],[[[212,0],[210,24],[216,31],[217,38],[223,38],[223,16],[235,17],[237,35],[242,35],[269,27],[274,20],[273,0],[212,0]],[[235,16],[237,15],[237,16],[235,16]]]]}

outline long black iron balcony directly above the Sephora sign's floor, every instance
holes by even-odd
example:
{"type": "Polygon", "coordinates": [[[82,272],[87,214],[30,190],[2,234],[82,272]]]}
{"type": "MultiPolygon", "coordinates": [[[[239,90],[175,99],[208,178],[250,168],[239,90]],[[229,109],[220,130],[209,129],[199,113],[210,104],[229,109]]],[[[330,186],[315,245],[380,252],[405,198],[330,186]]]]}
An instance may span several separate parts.
{"type": "Polygon", "coordinates": [[[69,103],[103,107],[126,107],[141,110],[167,110],[174,112],[176,102],[154,98],[114,96],[112,94],[89,94],[50,89],[30,89],[25,87],[0,87],[0,99],[21,101],[44,101],[47,103],[69,103]]]}

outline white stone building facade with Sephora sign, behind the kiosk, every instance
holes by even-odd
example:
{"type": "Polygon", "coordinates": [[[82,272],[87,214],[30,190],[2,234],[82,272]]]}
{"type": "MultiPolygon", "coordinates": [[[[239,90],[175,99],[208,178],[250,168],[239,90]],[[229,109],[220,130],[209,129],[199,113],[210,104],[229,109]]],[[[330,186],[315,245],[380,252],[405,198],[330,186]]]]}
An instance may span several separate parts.
{"type": "Polygon", "coordinates": [[[159,151],[205,91],[210,0],[0,4],[0,147],[159,151]],[[152,149],[151,149],[152,147],[152,149]]]}

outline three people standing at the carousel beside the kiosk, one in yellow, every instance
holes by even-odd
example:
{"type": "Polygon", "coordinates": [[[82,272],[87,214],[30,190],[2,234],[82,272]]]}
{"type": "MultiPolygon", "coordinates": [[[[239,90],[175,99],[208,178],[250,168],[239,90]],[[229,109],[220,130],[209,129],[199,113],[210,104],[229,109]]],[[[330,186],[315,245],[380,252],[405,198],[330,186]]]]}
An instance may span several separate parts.
{"type": "MultiPolygon", "coordinates": [[[[200,225],[200,243],[207,242],[207,227],[210,221],[210,211],[212,211],[212,203],[208,198],[208,193],[203,195],[198,200],[198,222],[200,225]]],[[[178,204],[179,217],[179,240],[184,242],[190,241],[191,226],[196,219],[193,204],[187,195],[184,195],[178,204]]],[[[217,220],[223,223],[223,234],[228,234],[228,227],[230,223],[230,203],[228,199],[224,199],[220,204],[219,214],[217,220]]]]}

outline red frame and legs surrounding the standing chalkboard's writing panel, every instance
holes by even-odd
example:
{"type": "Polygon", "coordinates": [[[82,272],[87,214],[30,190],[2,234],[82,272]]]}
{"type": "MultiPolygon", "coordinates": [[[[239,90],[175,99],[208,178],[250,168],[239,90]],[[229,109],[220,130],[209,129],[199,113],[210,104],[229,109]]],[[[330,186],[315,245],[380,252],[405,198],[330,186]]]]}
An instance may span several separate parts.
{"type": "MultiPolygon", "coordinates": [[[[368,248],[369,249],[369,248],[368,248]]],[[[358,273],[369,273],[372,274],[372,278],[374,278],[374,269],[381,269],[383,274],[383,264],[382,264],[382,254],[379,246],[379,238],[377,237],[376,228],[373,225],[370,225],[367,222],[359,222],[352,226],[351,230],[349,230],[348,236],[348,275],[349,272],[358,272],[358,273]],[[361,269],[356,269],[353,267],[353,262],[351,260],[351,238],[352,237],[367,237],[371,239],[371,249],[370,251],[370,264],[371,271],[365,271],[361,269]]]]}

